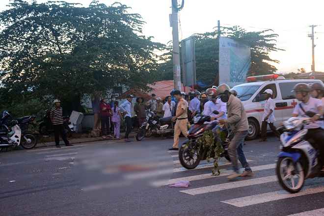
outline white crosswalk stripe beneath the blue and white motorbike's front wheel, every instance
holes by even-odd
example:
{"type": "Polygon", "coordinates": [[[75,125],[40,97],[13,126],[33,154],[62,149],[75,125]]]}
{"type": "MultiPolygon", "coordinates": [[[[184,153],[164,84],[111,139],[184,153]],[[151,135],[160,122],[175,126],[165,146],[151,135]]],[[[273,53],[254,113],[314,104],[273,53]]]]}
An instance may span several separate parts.
{"type": "MultiPolygon", "coordinates": [[[[324,184],[320,184],[324,185],[324,184]]],[[[319,185],[317,185],[319,186],[319,185]]],[[[312,186],[314,187],[314,186],[312,186]]],[[[314,193],[320,193],[324,192],[324,187],[318,187],[318,188],[311,188],[309,187],[304,187],[302,191],[299,191],[298,193],[289,193],[286,190],[279,190],[275,192],[269,192],[269,193],[262,193],[262,194],[257,194],[257,195],[252,195],[252,196],[245,196],[241,198],[236,198],[236,199],[229,199],[225,201],[221,201],[222,203],[227,203],[236,207],[244,207],[244,206],[251,206],[255,204],[260,204],[260,203],[266,203],[270,201],[276,201],[280,199],[287,199],[287,198],[292,198],[292,197],[297,197],[297,196],[304,196],[304,195],[309,195],[309,194],[314,194],[314,193]]],[[[298,214],[299,215],[299,214],[298,214]]],[[[322,214],[318,214],[322,215],[322,214]]]]}

